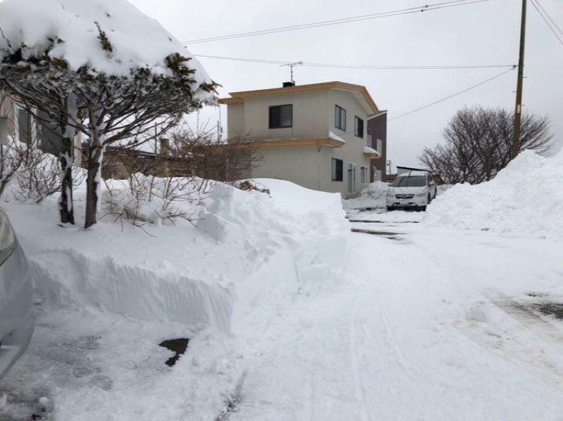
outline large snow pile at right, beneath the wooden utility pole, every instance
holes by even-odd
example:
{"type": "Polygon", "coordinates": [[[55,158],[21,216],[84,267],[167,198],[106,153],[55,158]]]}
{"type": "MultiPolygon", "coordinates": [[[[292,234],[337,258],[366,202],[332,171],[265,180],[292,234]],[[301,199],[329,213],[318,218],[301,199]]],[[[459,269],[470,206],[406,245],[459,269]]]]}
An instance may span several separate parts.
{"type": "Polygon", "coordinates": [[[424,224],[563,239],[563,152],[524,151],[492,181],[453,186],[429,205],[424,224]]]}

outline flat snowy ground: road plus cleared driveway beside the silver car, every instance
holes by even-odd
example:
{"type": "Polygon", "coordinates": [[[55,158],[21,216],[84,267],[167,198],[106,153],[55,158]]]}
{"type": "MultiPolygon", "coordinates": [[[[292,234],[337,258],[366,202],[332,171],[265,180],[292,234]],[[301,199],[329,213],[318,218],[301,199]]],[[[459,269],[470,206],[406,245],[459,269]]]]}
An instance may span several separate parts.
{"type": "Polygon", "coordinates": [[[562,244],[423,216],[353,215],[374,234],[350,234],[346,275],[253,302],[232,337],[40,311],[0,419],[54,396],[44,420],[563,420],[563,320],[532,311],[563,303],[562,244]],[[170,369],[175,337],[191,341],[170,369]]]}

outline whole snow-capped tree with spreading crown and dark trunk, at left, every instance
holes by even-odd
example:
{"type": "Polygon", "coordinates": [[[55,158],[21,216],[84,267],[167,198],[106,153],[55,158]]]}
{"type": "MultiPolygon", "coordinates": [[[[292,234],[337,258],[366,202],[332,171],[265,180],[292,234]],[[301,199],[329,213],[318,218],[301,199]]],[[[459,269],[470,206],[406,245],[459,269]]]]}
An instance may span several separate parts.
{"type": "MultiPolygon", "coordinates": [[[[125,0],[5,0],[0,16],[0,84],[59,128],[63,171],[70,136],[87,136],[86,228],[97,221],[108,145],[215,101],[216,84],[184,46],[125,0]]],[[[61,199],[72,186],[64,180],[61,199]]]]}

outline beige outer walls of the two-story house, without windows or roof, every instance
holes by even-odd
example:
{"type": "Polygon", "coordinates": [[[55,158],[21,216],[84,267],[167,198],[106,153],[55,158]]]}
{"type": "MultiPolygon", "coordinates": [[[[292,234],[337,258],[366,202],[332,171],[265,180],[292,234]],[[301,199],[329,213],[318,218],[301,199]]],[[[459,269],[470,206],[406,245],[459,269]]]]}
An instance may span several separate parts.
{"type": "Polygon", "coordinates": [[[229,138],[248,136],[254,141],[322,139],[330,132],[346,141],[340,148],[328,145],[298,145],[258,148],[260,162],[251,173],[252,178],[283,179],[314,190],[341,193],[350,197],[367,187],[361,183],[360,168],[367,168],[369,158],[363,154],[367,136],[368,111],[350,91],[317,89],[274,95],[250,96],[241,104],[231,104],[227,111],[229,138]],[[269,110],[273,105],[293,105],[293,127],[269,128],[269,110]],[[335,105],[346,110],[346,131],[336,129],[335,105]],[[364,120],[364,137],[354,134],[355,116],[364,120]],[[343,181],[331,181],[331,159],[343,161],[343,181]],[[356,165],[355,193],[348,192],[348,163],[356,165]]]}

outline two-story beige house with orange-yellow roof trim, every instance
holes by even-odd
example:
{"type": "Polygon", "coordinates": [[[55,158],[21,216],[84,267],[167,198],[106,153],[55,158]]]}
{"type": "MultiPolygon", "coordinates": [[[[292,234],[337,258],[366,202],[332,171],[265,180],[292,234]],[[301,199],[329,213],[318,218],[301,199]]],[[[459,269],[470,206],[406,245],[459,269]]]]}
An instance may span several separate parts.
{"type": "Polygon", "coordinates": [[[229,139],[255,142],[258,164],[248,178],[293,181],[352,197],[372,178],[380,157],[367,120],[381,112],[364,86],[325,82],[230,93],[229,139]]]}

